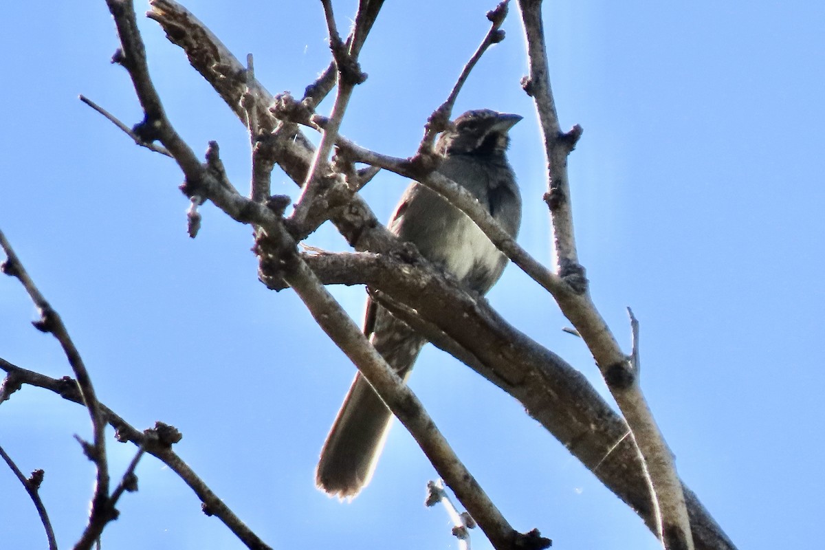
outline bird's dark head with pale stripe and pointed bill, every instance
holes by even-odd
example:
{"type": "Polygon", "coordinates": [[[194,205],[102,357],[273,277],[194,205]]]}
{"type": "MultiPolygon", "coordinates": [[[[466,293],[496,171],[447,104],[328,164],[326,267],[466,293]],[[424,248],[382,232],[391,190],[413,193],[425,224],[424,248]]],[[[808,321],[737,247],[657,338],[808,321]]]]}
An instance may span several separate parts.
{"type": "Polygon", "coordinates": [[[523,117],[495,110],[468,110],[441,134],[436,152],[442,155],[502,156],[510,138],[507,132],[523,117]]]}

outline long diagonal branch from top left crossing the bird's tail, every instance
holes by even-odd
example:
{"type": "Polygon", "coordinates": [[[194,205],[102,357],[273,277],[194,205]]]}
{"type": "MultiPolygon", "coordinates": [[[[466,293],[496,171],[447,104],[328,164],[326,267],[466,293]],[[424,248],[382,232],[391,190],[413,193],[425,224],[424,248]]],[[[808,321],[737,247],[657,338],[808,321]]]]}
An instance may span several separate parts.
{"type": "MultiPolygon", "coordinates": [[[[184,192],[190,196],[204,196],[234,219],[244,223],[253,222],[264,229],[265,233],[257,244],[258,253],[272,256],[271,261],[278,264],[281,277],[304,300],[319,325],[328,332],[333,341],[336,341],[359,369],[365,372],[370,384],[387,402],[394,414],[407,425],[441,477],[447,480],[497,548],[509,548],[507,545],[514,543],[516,539],[523,539],[525,543],[531,541],[533,546],[530,548],[544,548],[537,534],[516,533],[498,513],[492,501],[489,501],[478,483],[452,453],[446,440],[436,430],[413,393],[385,364],[361,330],[301,261],[296,253],[295,241],[286,233],[281,220],[273,219],[276,218],[276,214],[261,204],[244,199],[229,184],[219,160],[217,144],[210,143],[205,167],[194,160],[191,148],[179,138],[167,120],[158,93],[149,78],[143,41],[134,20],[134,9],[131,6],[120,5],[115,0],[108,2],[123,46],[120,63],[129,71],[135,92],[144,106],[145,124],[151,125],[156,139],[169,149],[186,175],[184,192]]],[[[331,40],[334,41],[336,33],[332,25],[330,34],[331,40]]],[[[348,61],[351,60],[337,58],[339,73],[343,73],[344,70],[341,67],[342,63],[348,61]]],[[[343,78],[339,79],[339,89],[342,87],[343,78]]],[[[351,82],[351,86],[355,83],[351,82]]],[[[346,101],[343,102],[343,106],[346,106],[346,101]]]]}

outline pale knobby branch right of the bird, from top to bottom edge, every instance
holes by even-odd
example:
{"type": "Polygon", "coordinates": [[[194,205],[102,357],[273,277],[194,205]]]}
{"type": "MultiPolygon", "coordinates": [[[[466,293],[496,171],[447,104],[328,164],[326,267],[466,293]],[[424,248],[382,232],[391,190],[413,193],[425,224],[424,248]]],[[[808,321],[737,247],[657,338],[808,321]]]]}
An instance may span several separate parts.
{"type": "MultiPolygon", "coordinates": [[[[549,190],[545,200],[552,214],[558,275],[579,290],[578,295],[556,299],[564,315],[573,322],[591,350],[610,393],[625,416],[633,440],[639,446],[644,471],[649,476],[653,509],[661,513],[657,513],[655,532],[658,538],[664,548],[692,550],[691,522],[672,453],[648,408],[632,361],[621,352],[615,337],[588,296],[584,270],[578,263],[567,157],[573,151],[582,129],[575,126],[567,134],[562,134],[559,129],[559,115],[550,88],[541,4],[541,0],[519,0],[530,62],[530,76],[523,80],[522,85],[533,97],[544,134],[549,171],[549,190]]],[[[634,359],[638,360],[635,353],[634,359]]]]}

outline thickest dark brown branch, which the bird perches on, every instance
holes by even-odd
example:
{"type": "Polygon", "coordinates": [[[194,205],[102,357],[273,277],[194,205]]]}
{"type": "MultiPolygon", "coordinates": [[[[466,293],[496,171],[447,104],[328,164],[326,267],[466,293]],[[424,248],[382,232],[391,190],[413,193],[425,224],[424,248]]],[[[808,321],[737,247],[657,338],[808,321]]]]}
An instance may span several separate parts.
{"type": "MultiPolygon", "coordinates": [[[[456,355],[460,359],[474,358],[470,367],[521,402],[531,417],[655,529],[643,465],[627,437],[627,425],[577,369],[414,253],[342,253],[307,260],[325,284],[367,284],[393,303],[406,304],[394,313],[436,343],[448,338],[444,347],[464,350],[456,355]],[[404,311],[415,312],[420,320],[404,317],[404,311]]],[[[266,272],[260,275],[273,288],[280,284],[266,272]]],[[[696,548],[735,548],[695,496],[687,489],[686,494],[696,548]]]]}

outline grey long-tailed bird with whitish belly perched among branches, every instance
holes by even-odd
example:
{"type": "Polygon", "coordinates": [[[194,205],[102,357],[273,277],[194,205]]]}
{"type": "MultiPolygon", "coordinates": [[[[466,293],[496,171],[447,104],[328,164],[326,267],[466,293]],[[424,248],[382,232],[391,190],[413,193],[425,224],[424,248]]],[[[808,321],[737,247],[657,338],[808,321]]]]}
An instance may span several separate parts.
{"type": "MultiPolygon", "coordinates": [[[[513,237],[521,224],[521,195],[505,151],[507,131],[519,120],[519,115],[469,110],[436,142],[436,153],[444,157],[438,172],[469,190],[513,237]]],[[[472,220],[417,182],[404,192],[389,229],[479,294],[493,286],[507,264],[507,257],[472,220]]],[[[406,381],[427,341],[370,299],[364,332],[406,381]]],[[[391,419],[384,402],[356,374],[323,444],[318,487],[341,498],[356,496],[370,482],[391,419]]]]}

